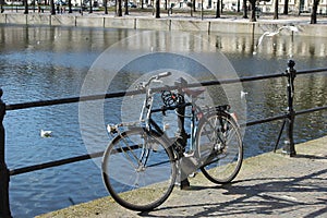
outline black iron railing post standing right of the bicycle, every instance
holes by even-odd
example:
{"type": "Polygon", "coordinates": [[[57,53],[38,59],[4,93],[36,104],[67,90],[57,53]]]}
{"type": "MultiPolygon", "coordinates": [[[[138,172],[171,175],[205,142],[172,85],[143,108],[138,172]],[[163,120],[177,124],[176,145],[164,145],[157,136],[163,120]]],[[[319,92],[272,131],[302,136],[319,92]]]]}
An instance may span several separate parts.
{"type": "Polygon", "coordinates": [[[290,157],[296,155],[293,138],[293,128],[295,120],[295,111],[293,108],[294,98],[294,78],[296,76],[296,70],[294,69],[295,62],[293,60],[288,61],[288,69],[286,71],[288,76],[288,118],[286,120],[287,128],[287,138],[284,141],[283,152],[286,152],[290,157]]]}

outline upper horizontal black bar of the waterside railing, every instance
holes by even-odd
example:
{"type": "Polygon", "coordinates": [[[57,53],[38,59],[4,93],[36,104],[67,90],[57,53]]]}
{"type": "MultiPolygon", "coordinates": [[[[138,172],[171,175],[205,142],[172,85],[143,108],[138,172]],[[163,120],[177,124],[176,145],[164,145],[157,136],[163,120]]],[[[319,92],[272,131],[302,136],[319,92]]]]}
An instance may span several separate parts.
{"type": "MultiPolygon", "coordinates": [[[[305,73],[310,73],[310,72],[317,73],[317,72],[325,72],[325,71],[327,72],[327,69],[303,70],[303,71],[299,71],[298,74],[305,74],[305,73]]],[[[189,84],[189,87],[233,84],[233,83],[240,83],[240,82],[251,82],[251,81],[275,78],[275,77],[281,77],[281,76],[286,76],[286,75],[287,75],[286,73],[278,73],[278,74],[270,74],[270,75],[245,76],[245,77],[240,77],[240,78],[229,78],[229,80],[221,80],[221,81],[207,81],[207,82],[203,82],[203,83],[189,84]]],[[[173,87],[175,87],[175,86],[172,86],[170,88],[173,88],[173,87]]],[[[162,89],[162,87],[159,87],[156,89],[160,90],[160,89],[162,89]]],[[[92,96],[12,104],[12,105],[5,105],[5,110],[19,110],[19,109],[27,109],[27,108],[35,108],[35,107],[72,104],[72,102],[78,102],[78,101],[100,100],[104,98],[117,98],[117,97],[123,97],[123,96],[137,95],[137,94],[142,94],[142,93],[144,93],[144,92],[143,90],[129,90],[129,92],[118,92],[118,93],[99,94],[99,95],[92,95],[92,96]]]]}

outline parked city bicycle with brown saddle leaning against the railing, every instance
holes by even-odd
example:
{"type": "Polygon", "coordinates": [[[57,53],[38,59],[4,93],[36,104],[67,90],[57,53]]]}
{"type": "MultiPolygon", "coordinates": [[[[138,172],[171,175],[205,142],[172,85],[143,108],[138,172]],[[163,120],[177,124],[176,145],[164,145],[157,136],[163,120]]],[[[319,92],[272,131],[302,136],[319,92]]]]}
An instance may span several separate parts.
{"type": "Polygon", "coordinates": [[[175,89],[161,90],[164,106],[153,108],[158,90],[150,84],[170,75],[164,72],[152,76],[138,87],[145,90],[138,121],[107,126],[114,137],[102,157],[104,182],[112,198],[132,210],[149,211],[161,205],[177,180],[186,179],[183,174],[187,177],[199,169],[208,180],[221,184],[231,182],[241,169],[243,143],[229,106],[196,106],[205,89],[186,88],[181,80],[175,89]],[[189,107],[191,114],[183,114],[189,107]],[[173,110],[181,130],[177,137],[169,137],[152,114],[165,116],[173,110]],[[190,134],[184,132],[184,118],[191,119],[190,134]],[[121,132],[122,128],[128,130],[121,132]]]}

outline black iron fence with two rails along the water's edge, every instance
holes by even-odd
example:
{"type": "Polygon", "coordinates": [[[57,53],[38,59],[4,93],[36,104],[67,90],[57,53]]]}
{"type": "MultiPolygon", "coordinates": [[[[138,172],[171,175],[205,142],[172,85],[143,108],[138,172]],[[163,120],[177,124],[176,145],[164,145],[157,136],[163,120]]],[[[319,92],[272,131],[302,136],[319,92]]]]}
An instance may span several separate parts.
{"type": "MultiPolygon", "coordinates": [[[[277,77],[287,77],[288,85],[287,85],[287,96],[288,96],[288,108],[284,114],[269,117],[261,120],[249,121],[244,123],[244,125],[255,125],[261,123],[267,123],[276,120],[283,120],[281,130],[279,132],[277,143],[275,149],[279,144],[279,140],[283,132],[283,129],[287,129],[287,137],[286,137],[286,145],[283,149],[292,157],[296,155],[294,148],[294,141],[293,141],[293,124],[295,120],[295,116],[311,113],[315,111],[326,110],[327,106],[323,107],[315,107],[306,110],[295,111],[293,108],[293,97],[294,97],[294,78],[296,75],[303,74],[313,74],[313,73],[320,73],[327,72],[327,68],[323,69],[313,69],[313,70],[303,70],[303,71],[295,71],[294,70],[294,61],[289,60],[288,69],[283,73],[279,74],[270,74],[270,75],[257,75],[257,76],[249,76],[249,77],[241,77],[238,80],[223,80],[223,81],[210,81],[204,82],[202,86],[211,86],[211,85],[222,85],[222,84],[232,84],[232,83],[245,83],[252,81],[261,81],[261,80],[269,80],[269,78],[277,78],[277,77]]],[[[198,86],[198,84],[190,84],[190,87],[198,86]]],[[[10,177],[22,174],[26,172],[32,172],[36,170],[41,170],[46,168],[52,168],[61,165],[68,165],[72,162],[77,162],[82,160],[87,160],[90,158],[101,157],[104,152],[94,153],[94,154],[86,154],[82,156],[44,162],[39,165],[33,165],[28,167],[11,169],[9,170],[5,164],[5,156],[4,156],[4,148],[5,148],[5,140],[4,140],[4,126],[3,126],[3,118],[7,111],[11,110],[20,110],[26,108],[36,108],[36,107],[46,107],[46,106],[53,106],[53,105],[63,105],[63,104],[72,104],[72,102],[80,102],[80,101],[88,101],[88,100],[97,100],[105,98],[117,98],[123,96],[131,96],[141,94],[140,90],[132,90],[132,92],[120,92],[120,93],[110,93],[104,95],[94,95],[94,96],[82,96],[82,97],[73,97],[73,98],[61,98],[61,99],[53,99],[53,100],[40,100],[40,101],[31,101],[24,104],[14,104],[14,105],[5,105],[1,97],[2,97],[2,89],[0,88],[0,217],[11,217],[10,204],[9,204],[9,182],[10,177]]]]}

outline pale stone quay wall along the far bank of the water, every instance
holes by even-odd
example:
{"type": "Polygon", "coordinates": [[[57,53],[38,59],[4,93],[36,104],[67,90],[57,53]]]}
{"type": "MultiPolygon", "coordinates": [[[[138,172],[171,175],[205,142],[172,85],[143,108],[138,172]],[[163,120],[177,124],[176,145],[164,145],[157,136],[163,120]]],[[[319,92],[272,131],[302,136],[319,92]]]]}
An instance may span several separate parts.
{"type": "Polygon", "coordinates": [[[299,23],[294,21],[258,21],[246,20],[196,20],[178,17],[114,17],[114,16],[82,16],[72,14],[0,14],[2,24],[83,26],[106,28],[134,28],[154,31],[187,31],[207,33],[263,34],[266,31],[277,31],[283,25],[296,25],[299,35],[327,37],[326,24],[299,23]]]}

